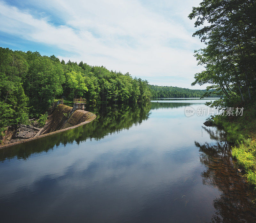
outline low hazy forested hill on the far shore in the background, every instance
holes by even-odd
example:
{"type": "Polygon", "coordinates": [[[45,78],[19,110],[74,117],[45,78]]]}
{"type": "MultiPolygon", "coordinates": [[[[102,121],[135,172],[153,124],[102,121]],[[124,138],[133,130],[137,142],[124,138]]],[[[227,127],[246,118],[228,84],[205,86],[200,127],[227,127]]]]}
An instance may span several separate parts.
{"type": "MultiPolygon", "coordinates": [[[[172,86],[157,86],[150,85],[152,98],[201,98],[217,97],[216,94],[211,94],[206,90],[191,90],[188,88],[172,87],[172,86]]],[[[213,90],[212,90],[213,91],[213,90]]]]}

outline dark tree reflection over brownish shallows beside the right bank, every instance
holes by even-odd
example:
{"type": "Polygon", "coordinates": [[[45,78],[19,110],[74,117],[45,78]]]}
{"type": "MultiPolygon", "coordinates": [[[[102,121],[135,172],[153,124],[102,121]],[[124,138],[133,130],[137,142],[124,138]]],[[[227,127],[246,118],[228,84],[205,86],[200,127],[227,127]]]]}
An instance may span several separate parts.
{"type": "Polygon", "coordinates": [[[195,141],[202,152],[200,161],[206,166],[206,171],[202,172],[203,184],[221,192],[220,197],[213,201],[216,211],[211,222],[256,222],[255,193],[237,173],[224,132],[203,128],[215,141],[214,144],[205,142],[202,145],[195,141]]]}

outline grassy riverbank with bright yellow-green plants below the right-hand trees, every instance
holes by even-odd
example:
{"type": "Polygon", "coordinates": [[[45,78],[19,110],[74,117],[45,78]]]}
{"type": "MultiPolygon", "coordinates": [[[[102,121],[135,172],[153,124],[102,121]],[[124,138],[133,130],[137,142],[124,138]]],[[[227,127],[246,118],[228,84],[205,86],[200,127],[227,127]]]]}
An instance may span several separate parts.
{"type": "Polygon", "coordinates": [[[232,156],[256,188],[256,105],[245,107],[242,116],[216,115],[213,124],[226,132],[227,141],[233,144],[232,156]]]}

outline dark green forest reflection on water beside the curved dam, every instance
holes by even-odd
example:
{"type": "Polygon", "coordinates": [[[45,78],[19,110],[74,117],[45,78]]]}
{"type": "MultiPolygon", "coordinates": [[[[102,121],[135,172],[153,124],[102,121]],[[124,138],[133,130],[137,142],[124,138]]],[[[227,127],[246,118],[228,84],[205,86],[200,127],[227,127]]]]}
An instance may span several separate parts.
{"type": "Polygon", "coordinates": [[[87,111],[97,115],[92,122],[75,129],[3,148],[0,150],[0,160],[4,161],[13,157],[27,159],[31,154],[47,152],[60,144],[65,146],[74,141],[79,144],[88,139],[102,139],[108,134],[129,129],[133,124],[137,125],[142,123],[143,120],[147,120],[151,114],[150,109],[150,102],[132,105],[100,104],[94,107],[87,107],[87,111]]]}

